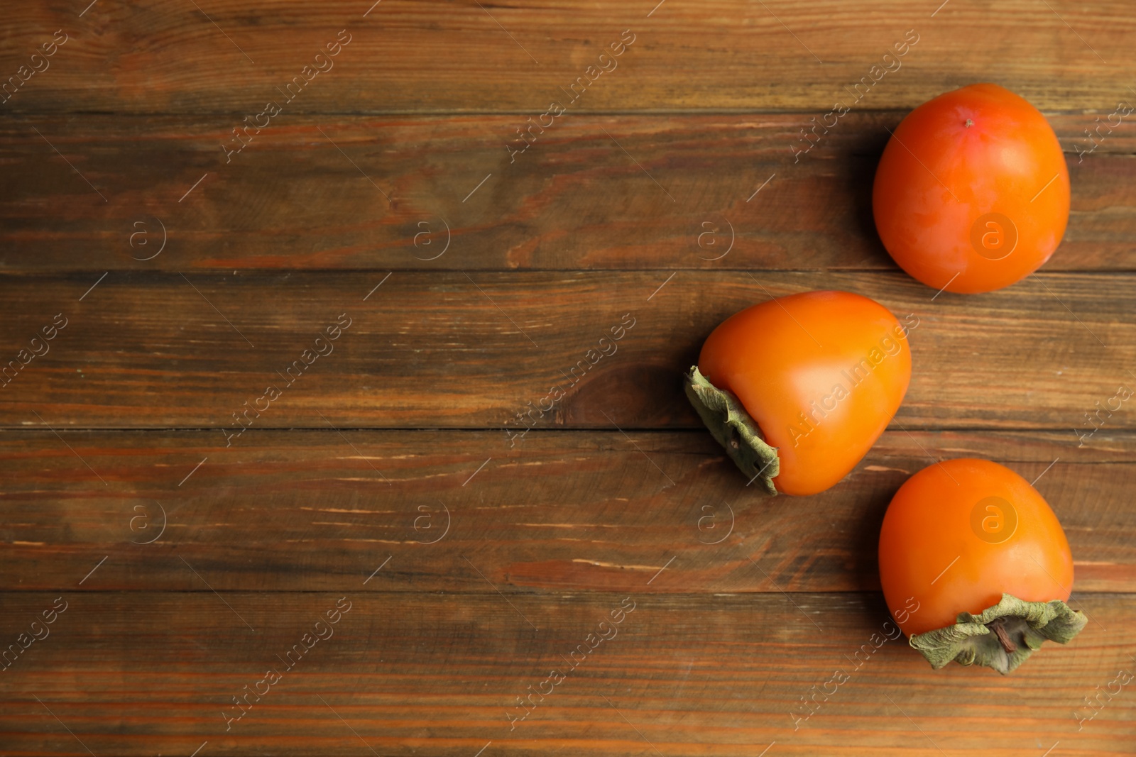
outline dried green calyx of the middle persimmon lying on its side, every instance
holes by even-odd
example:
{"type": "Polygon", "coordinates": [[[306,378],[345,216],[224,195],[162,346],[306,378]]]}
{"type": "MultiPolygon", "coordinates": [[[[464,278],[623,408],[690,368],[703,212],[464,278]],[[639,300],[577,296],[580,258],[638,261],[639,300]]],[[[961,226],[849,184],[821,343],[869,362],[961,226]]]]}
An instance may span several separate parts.
{"type": "Polygon", "coordinates": [[[758,479],[767,493],[776,495],[774,478],[780,472],[777,447],[766,444],[741,401],[707,380],[698,365],[686,375],[686,396],[730,460],[751,481],[758,479]]]}

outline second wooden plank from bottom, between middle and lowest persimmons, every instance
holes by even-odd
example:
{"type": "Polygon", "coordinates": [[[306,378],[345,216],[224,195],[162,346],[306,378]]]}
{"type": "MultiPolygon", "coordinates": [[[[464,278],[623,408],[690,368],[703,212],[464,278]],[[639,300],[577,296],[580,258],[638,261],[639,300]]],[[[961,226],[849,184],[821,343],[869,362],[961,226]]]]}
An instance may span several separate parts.
{"type": "Polygon", "coordinates": [[[203,431],[62,436],[0,435],[8,589],[72,589],[95,565],[84,589],[200,588],[185,560],[218,590],[332,591],[390,558],[365,590],[878,590],[892,495],[962,456],[1037,479],[1078,590],[1136,580],[1136,437],[1104,430],[1081,448],[888,432],[807,499],[747,488],[700,432],[533,431],[513,448],[490,431],[249,431],[228,449],[203,431]]]}

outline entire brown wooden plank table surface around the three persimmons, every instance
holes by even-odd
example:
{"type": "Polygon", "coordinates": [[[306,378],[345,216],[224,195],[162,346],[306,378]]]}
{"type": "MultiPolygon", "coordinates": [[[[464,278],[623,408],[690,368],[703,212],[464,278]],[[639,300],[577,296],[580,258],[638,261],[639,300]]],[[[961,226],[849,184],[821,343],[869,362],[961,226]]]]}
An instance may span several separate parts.
{"type": "Polygon", "coordinates": [[[1088,420],[1136,386],[1130,2],[87,2],[0,19],[0,754],[1136,754],[1136,413],[1088,420]],[[871,178],[978,81],[1072,212],[936,296],[871,178]],[[767,498],[680,371],[817,288],[918,322],[911,389],[767,498]],[[1005,678],[888,638],[884,510],[958,456],[1037,480],[1091,619],[1005,678]]]}

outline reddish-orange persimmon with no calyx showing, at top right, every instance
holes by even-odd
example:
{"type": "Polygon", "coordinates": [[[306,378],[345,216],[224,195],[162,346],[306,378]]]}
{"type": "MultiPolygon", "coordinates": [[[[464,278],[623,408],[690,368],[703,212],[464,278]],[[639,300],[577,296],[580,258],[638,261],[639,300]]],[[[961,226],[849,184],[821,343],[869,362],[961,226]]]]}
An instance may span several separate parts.
{"type": "Polygon", "coordinates": [[[1069,170],[1029,102],[971,84],[912,110],[876,170],[876,229],[936,289],[991,292],[1039,268],[1069,220],[1069,170]]]}

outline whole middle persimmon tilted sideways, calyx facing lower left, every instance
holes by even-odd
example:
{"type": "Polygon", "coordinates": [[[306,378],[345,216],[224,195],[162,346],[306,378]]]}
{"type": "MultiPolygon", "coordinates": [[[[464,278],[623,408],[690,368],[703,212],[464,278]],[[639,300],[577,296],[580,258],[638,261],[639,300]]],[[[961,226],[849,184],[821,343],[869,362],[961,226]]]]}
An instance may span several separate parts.
{"type": "Polygon", "coordinates": [[[769,300],[710,334],[686,394],[751,482],[816,494],[855,468],[899,410],[911,380],[907,335],[859,294],[769,300]]]}

